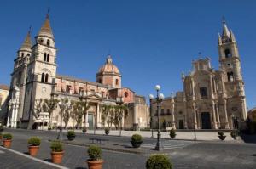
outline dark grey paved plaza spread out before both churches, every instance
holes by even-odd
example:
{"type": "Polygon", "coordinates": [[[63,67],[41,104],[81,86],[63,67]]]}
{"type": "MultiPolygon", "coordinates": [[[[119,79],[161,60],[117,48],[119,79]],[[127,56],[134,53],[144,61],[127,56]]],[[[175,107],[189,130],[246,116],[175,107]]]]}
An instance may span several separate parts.
{"type": "MultiPolygon", "coordinates": [[[[32,136],[38,136],[42,139],[42,144],[38,152],[38,159],[50,162],[49,139],[55,139],[57,132],[51,131],[30,131],[21,129],[6,129],[5,132],[11,132],[14,135],[11,149],[23,154],[27,154],[27,139],[32,136]]],[[[104,169],[141,169],[145,168],[145,162],[149,155],[157,153],[154,151],[155,138],[144,138],[142,148],[139,150],[131,148],[130,137],[103,136],[93,134],[77,134],[73,144],[64,144],[65,155],[61,166],[67,168],[86,169],[86,153],[89,138],[106,138],[108,143],[99,144],[102,146],[102,158],[104,159],[104,169]],[[82,144],[84,142],[84,144],[82,144]],[[78,145],[74,145],[77,143],[78,145]],[[112,146],[110,146],[112,144],[112,146]],[[113,150],[105,148],[116,148],[113,150]],[[129,149],[129,151],[125,151],[129,149]]],[[[64,133],[64,139],[66,134],[64,133]]],[[[65,142],[68,142],[65,140],[65,142]]],[[[72,142],[71,142],[72,143],[72,142]]],[[[186,141],[186,140],[170,140],[163,139],[165,145],[164,153],[168,155],[174,168],[176,169],[194,169],[194,168],[225,168],[225,169],[241,169],[254,168],[256,166],[256,144],[230,143],[220,141],[186,141]]],[[[3,149],[0,149],[3,151],[3,149]]],[[[10,152],[4,150],[6,154],[10,152]]],[[[26,168],[34,168],[32,165],[42,166],[38,161],[26,159],[20,155],[6,156],[0,154],[3,163],[14,163],[9,168],[24,168],[19,166],[19,162],[26,161],[26,168]],[[17,162],[17,164],[16,164],[17,162]]],[[[55,168],[54,166],[46,166],[47,168],[55,168]]]]}

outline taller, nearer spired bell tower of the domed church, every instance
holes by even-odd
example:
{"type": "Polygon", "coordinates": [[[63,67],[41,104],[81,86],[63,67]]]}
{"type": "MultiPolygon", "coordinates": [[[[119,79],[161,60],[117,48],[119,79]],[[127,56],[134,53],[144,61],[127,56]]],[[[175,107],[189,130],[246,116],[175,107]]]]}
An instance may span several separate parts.
{"type": "Polygon", "coordinates": [[[46,14],[44,24],[35,37],[36,44],[32,47],[32,57],[27,69],[26,107],[22,119],[32,128],[34,118],[33,106],[38,99],[49,99],[55,84],[56,48],[55,38],[46,14]]]}

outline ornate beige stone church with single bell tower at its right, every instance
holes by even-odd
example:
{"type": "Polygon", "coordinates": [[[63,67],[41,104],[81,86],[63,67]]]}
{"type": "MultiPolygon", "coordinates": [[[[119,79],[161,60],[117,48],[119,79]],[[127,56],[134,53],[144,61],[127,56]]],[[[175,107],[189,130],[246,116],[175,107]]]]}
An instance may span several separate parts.
{"type": "MultiPolygon", "coordinates": [[[[182,75],[183,91],[163,99],[160,122],[177,129],[232,129],[243,127],[247,118],[241,58],[236,38],[226,23],[218,34],[219,70],[210,59],[193,60],[193,71],[182,75]]],[[[157,111],[151,100],[152,125],[157,127],[157,111]]]]}

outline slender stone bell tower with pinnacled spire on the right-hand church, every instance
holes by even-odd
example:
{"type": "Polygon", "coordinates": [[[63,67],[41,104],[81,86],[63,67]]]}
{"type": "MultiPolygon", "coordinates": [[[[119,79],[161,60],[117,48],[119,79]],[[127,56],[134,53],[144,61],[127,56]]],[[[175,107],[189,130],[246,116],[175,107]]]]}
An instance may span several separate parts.
{"type": "MultiPolygon", "coordinates": [[[[218,34],[219,69],[224,75],[224,104],[230,116],[230,124],[245,121],[247,104],[245,99],[244,82],[241,75],[241,58],[235,35],[223,20],[222,34],[218,34]],[[236,121],[234,122],[234,118],[236,121]],[[237,120],[238,119],[238,120],[237,120]]],[[[230,127],[232,128],[232,127],[230,127]]]]}

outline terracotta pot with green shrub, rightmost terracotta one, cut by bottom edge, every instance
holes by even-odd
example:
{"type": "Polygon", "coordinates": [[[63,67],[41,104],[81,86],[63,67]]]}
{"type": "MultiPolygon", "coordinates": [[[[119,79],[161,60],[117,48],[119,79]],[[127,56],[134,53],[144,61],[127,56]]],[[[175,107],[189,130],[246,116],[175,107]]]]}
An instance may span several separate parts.
{"type": "Polygon", "coordinates": [[[90,145],[87,150],[89,159],[87,160],[89,169],[102,169],[102,149],[96,145],[90,145]]]}

